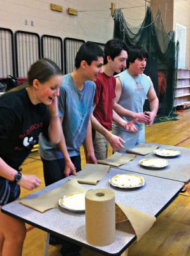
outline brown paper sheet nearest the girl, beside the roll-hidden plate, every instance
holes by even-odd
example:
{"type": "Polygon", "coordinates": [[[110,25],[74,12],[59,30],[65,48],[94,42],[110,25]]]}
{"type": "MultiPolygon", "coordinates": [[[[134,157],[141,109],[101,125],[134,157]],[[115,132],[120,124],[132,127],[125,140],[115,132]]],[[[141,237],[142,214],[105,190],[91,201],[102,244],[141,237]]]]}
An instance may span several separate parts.
{"type": "Polygon", "coordinates": [[[57,207],[59,199],[64,195],[69,195],[75,192],[86,192],[82,185],[78,184],[77,179],[71,179],[59,188],[39,195],[36,198],[21,199],[20,204],[24,204],[34,210],[45,212],[48,209],[57,207]]]}

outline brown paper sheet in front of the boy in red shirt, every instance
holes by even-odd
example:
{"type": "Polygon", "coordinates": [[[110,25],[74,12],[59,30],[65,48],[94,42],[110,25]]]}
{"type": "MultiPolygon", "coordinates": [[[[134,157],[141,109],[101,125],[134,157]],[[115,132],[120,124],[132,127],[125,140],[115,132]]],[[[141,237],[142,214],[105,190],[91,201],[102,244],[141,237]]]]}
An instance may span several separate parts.
{"type": "Polygon", "coordinates": [[[104,160],[98,160],[100,164],[108,164],[110,166],[121,166],[122,164],[126,164],[129,161],[132,161],[136,156],[135,155],[127,155],[115,152],[111,157],[108,157],[104,160]]]}

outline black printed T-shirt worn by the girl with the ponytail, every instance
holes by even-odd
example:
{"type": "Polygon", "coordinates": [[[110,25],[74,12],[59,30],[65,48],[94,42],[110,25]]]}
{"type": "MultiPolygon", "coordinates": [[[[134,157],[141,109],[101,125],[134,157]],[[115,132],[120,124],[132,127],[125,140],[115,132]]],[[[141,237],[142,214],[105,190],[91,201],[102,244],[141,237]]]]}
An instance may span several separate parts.
{"type": "Polygon", "coordinates": [[[42,103],[34,105],[26,88],[1,96],[0,157],[18,170],[38,143],[40,132],[47,134],[48,120],[47,106],[42,103]]]}

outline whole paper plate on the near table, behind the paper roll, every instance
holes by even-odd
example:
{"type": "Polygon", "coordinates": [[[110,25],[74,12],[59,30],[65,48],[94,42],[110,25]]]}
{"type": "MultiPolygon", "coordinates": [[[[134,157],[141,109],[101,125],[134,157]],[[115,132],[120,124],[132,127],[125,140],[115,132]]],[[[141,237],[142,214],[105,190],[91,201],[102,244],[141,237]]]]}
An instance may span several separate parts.
{"type": "Polygon", "coordinates": [[[145,184],[143,177],[133,174],[117,174],[109,182],[117,188],[138,188],[145,184]]]}

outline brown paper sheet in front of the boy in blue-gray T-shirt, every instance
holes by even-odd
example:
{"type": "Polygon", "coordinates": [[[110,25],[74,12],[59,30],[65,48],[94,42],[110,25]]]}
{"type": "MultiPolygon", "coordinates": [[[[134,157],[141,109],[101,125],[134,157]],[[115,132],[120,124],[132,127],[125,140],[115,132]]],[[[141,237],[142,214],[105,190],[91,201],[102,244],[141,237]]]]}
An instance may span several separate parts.
{"type": "Polygon", "coordinates": [[[79,183],[96,185],[99,180],[105,177],[109,170],[110,166],[103,164],[85,164],[84,169],[75,179],[77,179],[79,183]]]}

